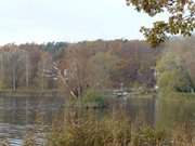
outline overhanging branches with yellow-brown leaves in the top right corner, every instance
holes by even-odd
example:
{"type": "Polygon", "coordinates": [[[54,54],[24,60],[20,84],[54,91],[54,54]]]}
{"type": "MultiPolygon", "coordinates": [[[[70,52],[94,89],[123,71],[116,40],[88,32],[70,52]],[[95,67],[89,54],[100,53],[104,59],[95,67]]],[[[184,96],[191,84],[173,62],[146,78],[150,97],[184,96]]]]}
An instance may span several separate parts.
{"type": "Polygon", "coordinates": [[[138,12],[150,16],[168,13],[168,21],[158,21],[152,28],[142,27],[141,32],[146,40],[156,47],[172,35],[191,36],[195,28],[194,0],[126,0],[138,12]]]}

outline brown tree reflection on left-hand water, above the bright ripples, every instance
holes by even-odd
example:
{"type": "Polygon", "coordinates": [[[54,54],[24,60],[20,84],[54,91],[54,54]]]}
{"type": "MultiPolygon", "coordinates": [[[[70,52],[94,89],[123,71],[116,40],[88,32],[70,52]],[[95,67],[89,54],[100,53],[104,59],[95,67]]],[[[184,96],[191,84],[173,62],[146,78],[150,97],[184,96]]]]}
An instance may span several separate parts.
{"type": "Polygon", "coordinates": [[[44,115],[46,122],[51,122],[63,103],[63,98],[57,97],[0,97],[0,123],[32,124],[37,112],[44,115]]]}

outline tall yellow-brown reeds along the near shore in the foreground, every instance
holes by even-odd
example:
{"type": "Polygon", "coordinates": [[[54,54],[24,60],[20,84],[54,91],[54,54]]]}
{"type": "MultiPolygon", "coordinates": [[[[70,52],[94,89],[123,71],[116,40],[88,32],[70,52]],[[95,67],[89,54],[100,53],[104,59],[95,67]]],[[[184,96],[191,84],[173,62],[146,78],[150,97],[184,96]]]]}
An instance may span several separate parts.
{"type": "Polygon", "coordinates": [[[92,114],[66,119],[53,125],[47,146],[193,146],[193,137],[183,130],[168,133],[144,124],[135,128],[122,114],[99,120],[92,114]]]}

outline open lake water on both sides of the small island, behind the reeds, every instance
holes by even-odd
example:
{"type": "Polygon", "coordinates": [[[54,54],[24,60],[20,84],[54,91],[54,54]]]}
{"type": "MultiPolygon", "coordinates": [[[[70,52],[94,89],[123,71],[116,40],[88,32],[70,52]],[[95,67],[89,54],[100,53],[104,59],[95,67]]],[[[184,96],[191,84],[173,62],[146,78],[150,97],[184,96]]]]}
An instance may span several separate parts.
{"type": "MultiPolygon", "coordinates": [[[[65,112],[62,97],[0,97],[0,140],[6,138],[11,145],[21,146],[25,135],[35,127],[46,133],[57,115],[65,112]],[[40,122],[41,121],[41,122],[40,122]]],[[[129,98],[115,101],[110,112],[120,107],[126,108],[132,121],[144,121],[162,128],[172,123],[191,121],[195,123],[195,102],[159,102],[155,98],[129,98]]]]}

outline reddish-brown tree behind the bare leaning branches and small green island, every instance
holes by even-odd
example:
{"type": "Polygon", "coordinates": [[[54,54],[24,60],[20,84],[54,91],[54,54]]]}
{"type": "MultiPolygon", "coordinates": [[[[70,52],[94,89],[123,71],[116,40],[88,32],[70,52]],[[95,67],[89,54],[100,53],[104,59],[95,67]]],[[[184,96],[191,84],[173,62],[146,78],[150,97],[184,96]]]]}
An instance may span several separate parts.
{"type": "Polygon", "coordinates": [[[81,97],[88,88],[88,62],[90,49],[82,43],[69,45],[60,63],[60,77],[64,85],[75,97],[81,97]]]}

